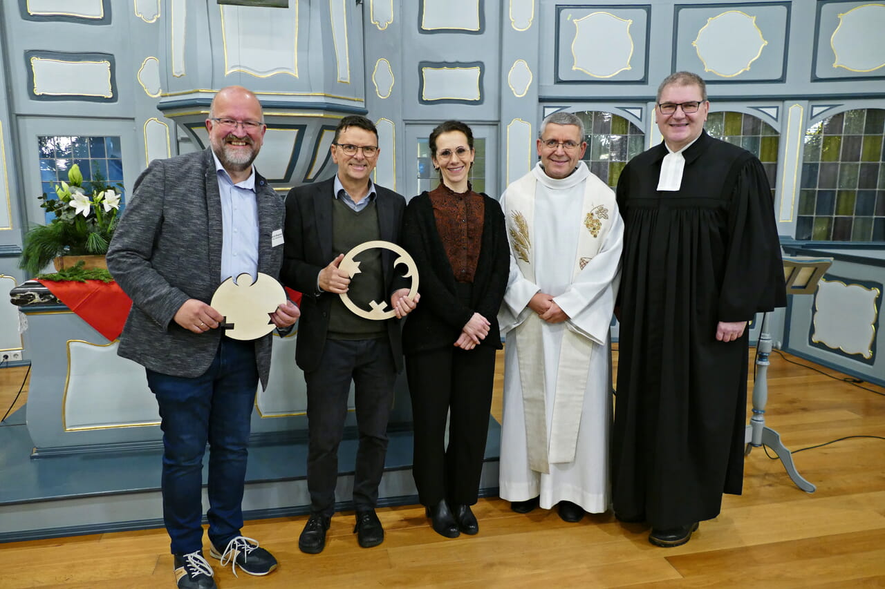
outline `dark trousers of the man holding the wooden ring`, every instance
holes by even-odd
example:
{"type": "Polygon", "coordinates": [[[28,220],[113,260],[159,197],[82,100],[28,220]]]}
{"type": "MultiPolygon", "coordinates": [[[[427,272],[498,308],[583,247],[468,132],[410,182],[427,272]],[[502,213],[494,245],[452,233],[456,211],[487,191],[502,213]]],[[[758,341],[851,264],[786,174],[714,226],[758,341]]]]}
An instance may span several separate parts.
{"type": "Polygon", "coordinates": [[[327,340],[319,369],[304,372],[307,383],[307,489],[311,512],[335,513],[338,445],[344,435],[350,381],[355,387],[359,444],[353,478],[357,510],[374,509],[387,455],[387,425],[396,366],[386,338],[327,340]]]}

